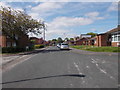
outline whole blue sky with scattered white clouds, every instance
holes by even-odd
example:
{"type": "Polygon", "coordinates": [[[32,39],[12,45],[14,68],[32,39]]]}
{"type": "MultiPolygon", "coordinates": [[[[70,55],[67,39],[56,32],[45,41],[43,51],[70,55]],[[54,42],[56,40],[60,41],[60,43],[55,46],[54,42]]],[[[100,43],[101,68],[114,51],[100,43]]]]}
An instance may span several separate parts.
{"type": "Polygon", "coordinates": [[[118,25],[117,2],[0,2],[1,5],[25,10],[32,18],[45,21],[46,40],[104,33],[118,25]]]}

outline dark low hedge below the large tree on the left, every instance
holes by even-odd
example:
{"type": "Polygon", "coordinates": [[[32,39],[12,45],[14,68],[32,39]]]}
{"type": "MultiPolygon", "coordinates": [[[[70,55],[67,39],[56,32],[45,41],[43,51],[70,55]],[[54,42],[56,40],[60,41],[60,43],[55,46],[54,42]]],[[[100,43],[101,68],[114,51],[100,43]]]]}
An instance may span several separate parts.
{"type": "Polygon", "coordinates": [[[22,47],[3,47],[2,53],[17,53],[25,51],[25,48],[22,47]]]}

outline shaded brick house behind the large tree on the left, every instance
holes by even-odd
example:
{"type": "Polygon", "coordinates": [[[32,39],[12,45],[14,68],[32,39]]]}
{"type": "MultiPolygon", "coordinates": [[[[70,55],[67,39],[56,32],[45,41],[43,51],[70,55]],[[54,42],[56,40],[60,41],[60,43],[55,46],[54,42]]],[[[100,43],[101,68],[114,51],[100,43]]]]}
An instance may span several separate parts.
{"type": "Polygon", "coordinates": [[[2,32],[0,32],[0,47],[26,47],[29,45],[28,35],[22,34],[20,37],[16,35],[15,38],[17,39],[18,44],[15,40],[9,38],[6,35],[3,35],[2,32]]]}

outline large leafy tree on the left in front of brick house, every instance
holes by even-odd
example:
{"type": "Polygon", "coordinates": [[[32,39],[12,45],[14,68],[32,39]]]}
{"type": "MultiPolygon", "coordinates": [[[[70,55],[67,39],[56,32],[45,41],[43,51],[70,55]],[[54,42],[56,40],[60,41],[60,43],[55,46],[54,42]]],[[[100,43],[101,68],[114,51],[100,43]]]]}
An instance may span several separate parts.
{"type": "Polygon", "coordinates": [[[2,34],[13,39],[18,44],[16,35],[21,37],[23,34],[34,33],[36,35],[41,34],[40,29],[43,28],[41,22],[34,20],[31,16],[24,12],[2,7],[0,10],[2,18],[2,34]]]}

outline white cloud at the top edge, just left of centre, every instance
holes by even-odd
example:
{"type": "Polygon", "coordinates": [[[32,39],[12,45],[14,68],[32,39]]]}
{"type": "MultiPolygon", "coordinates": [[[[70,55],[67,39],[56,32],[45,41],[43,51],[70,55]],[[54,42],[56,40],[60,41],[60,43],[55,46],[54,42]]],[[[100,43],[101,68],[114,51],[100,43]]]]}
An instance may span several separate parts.
{"type": "Polygon", "coordinates": [[[32,7],[31,12],[33,18],[46,17],[53,15],[55,10],[63,7],[65,3],[56,3],[56,2],[44,2],[39,5],[32,7]]]}

